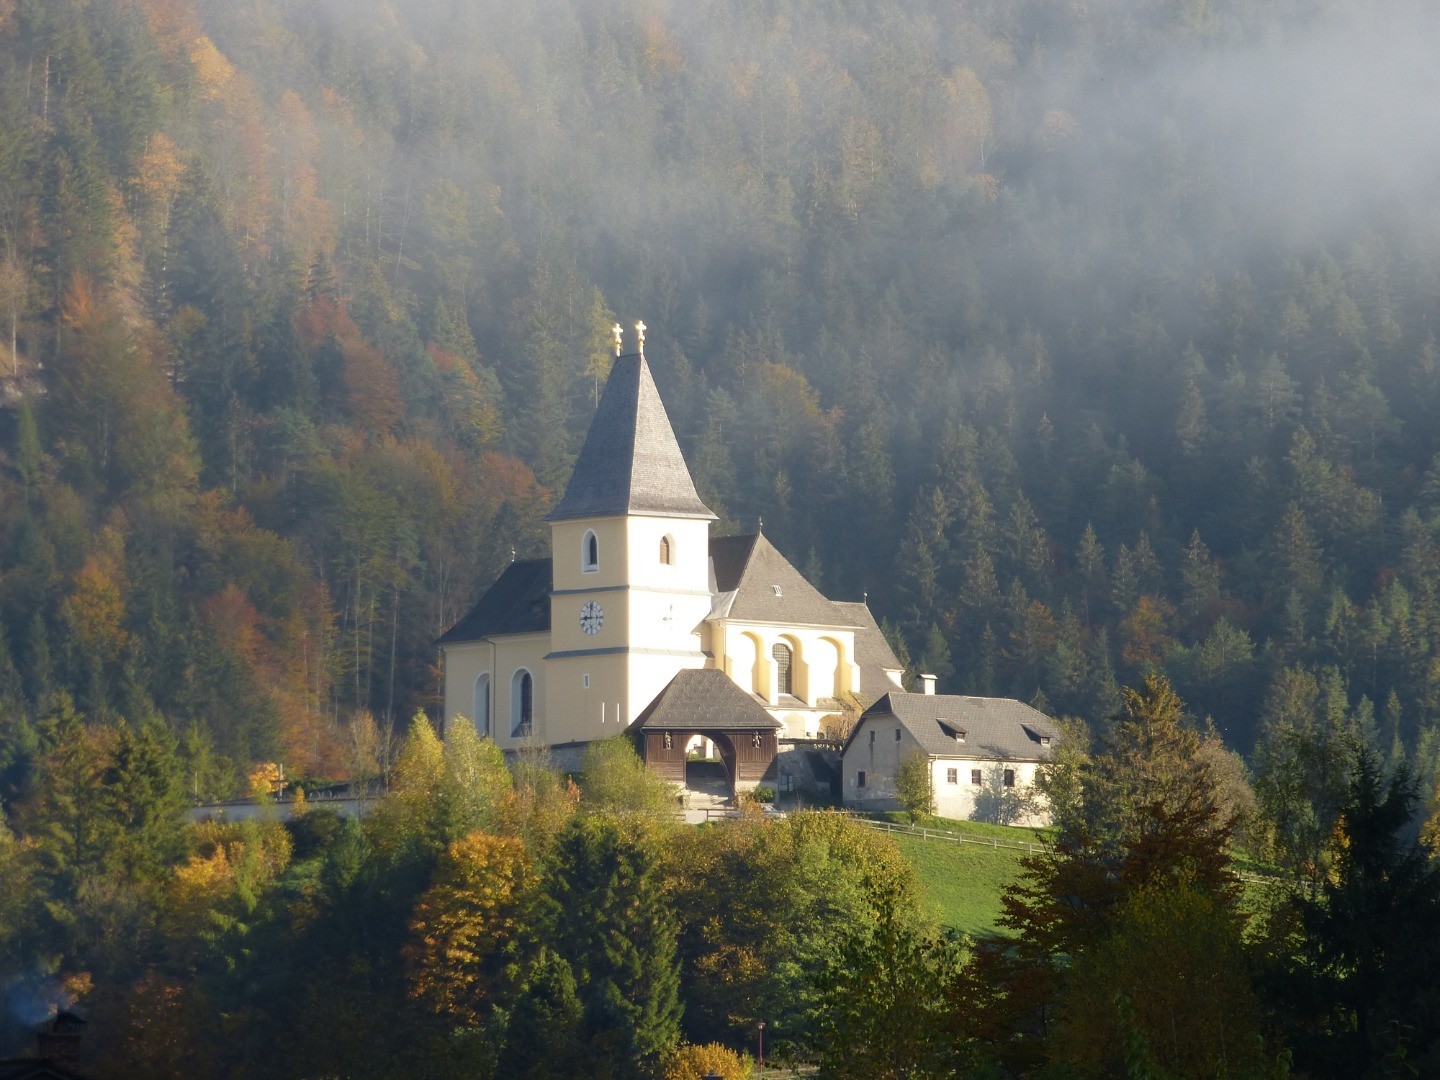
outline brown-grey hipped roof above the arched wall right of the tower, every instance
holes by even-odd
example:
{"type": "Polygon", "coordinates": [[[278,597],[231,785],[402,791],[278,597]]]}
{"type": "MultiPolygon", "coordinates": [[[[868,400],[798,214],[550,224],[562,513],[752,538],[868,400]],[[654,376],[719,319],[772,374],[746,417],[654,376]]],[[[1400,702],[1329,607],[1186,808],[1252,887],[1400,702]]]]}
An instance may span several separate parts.
{"type": "Polygon", "coordinates": [[[857,625],[821,596],[763,533],[713,539],[710,566],[717,593],[711,619],[809,626],[857,625]]]}

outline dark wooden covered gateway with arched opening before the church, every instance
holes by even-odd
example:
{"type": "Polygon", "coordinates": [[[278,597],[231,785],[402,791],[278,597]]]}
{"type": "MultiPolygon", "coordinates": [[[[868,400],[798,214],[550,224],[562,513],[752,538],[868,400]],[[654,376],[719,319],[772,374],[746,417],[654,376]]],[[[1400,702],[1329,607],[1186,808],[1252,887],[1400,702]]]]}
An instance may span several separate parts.
{"type": "Polygon", "coordinates": [[[730,795],[753,791],[775,768],[780,721],[723,671],[680,671],[626,729],[641,759],[685,786],[685,747],[694,736],[714,743],[730,795]]]}

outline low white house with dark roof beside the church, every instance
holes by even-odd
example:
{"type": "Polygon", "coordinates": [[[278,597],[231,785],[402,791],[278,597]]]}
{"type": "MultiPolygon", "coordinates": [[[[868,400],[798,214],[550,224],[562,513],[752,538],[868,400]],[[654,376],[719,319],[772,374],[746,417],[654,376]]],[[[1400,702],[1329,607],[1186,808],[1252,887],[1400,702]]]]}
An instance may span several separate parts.
{"type": "MultiPolygon", "coordinates": [[[[926,677],[926,688],[933,680],[926,677]]],[[[1009,698],[891,693],[864,711],[842,756],[844,799],[854,809],[899,809],[896,772],[910,755],[930,770],[942,818],[1045,825],[1035,770],[1061,733],[1053,720],[1009,698]]]]}

